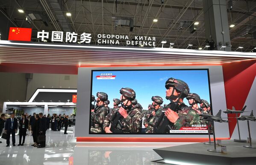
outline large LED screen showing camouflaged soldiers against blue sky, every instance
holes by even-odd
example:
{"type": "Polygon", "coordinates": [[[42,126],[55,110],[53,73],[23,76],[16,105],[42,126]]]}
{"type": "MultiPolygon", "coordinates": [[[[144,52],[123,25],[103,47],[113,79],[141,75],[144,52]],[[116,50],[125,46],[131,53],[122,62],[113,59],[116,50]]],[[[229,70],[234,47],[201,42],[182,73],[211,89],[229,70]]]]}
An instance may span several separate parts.
{"type": "Polygon", "coordinates": [[[92,70],[89,134],[207,134],[208,69],[92,70]]]}

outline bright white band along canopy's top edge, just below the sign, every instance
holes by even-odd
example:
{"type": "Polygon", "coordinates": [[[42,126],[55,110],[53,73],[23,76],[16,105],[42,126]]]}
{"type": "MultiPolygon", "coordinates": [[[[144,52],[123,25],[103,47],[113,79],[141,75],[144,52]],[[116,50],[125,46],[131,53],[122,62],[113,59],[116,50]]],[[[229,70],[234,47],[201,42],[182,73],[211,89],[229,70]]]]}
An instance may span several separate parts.
{"type": "MultiPolygon", "coordinates": [[[[35,43],[11,43],[10,41],[5,41],[5,40],[0,40],[0,44],[5,44],[5,45],[23,45],[23,46],[48,46],[48,47],[67,47],[67,48],[93,48],[93,49],[115,49],[115,50],[136,50],[136,51],[157,51],[159,53],[167,53],[167,54],[173,54],[177,52],[181,52],[182,54],[205,54],[206,56],[209,56],[209,54],[214,54],[215,56],[220,56],[220,54],[225,54],[226,56],[229,56],[230,53],[225,52],[225,51],[204,51],[201,50],[193,50],[193,49],[169,49],[169,48],[123,48],[123,47],[103,47],[103,46],[75,46],[75,45],[53,45],[53,44],[35,44],[35,43]],[[186,51],[185,51],[186,50],[186,51]],[[190,53],[188,53],[190,52],[190,53]],[[207,53],[207,54],[206,54],[207,53]]],[[[63,50],[63,49],[62,49],[63,50]]],[[[138,53],[138,52],[136,52],[138,53]]],[[[253,56],[251,53],[241,53],[241,52],[232,52],[232,56],[253,56]],[[239,54],[244,54],[244,55],[239,55],[239,54]]]]}

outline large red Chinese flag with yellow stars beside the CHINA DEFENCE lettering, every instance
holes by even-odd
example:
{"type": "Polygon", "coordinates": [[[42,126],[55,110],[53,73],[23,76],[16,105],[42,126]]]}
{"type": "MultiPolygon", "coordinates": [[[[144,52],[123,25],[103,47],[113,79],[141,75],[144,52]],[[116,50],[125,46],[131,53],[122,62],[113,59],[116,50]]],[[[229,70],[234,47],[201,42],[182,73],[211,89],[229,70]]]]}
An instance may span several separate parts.
{"type": "Polygon", "coordinates": [[[31,41],[32,28],[10,28],[8,40],[31,41]]]}

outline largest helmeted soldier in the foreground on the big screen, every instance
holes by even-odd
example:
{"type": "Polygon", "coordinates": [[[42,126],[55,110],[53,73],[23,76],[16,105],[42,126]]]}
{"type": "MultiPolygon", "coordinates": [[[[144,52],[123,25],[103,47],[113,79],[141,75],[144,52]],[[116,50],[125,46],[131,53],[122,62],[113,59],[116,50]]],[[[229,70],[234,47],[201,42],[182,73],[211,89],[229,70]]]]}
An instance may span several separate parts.
{"type": "MultiPolygon", "coordinates": [[[[165,82],[166,99],[170,100],[171,103],[168,104],[168,108],[165,108],[165,116],[169,120],[171,125],[162,125],[163,119],[159,121],[158,128],[166,128],[166,133],[170,133],[169,130],[175,129],[179,130],[181,127],[191,127],[194,124],[204,124],[200,120],[200,116],[197,111],[189,108],[184,104],[183,99],[188,96],[189,88],[187,83],[182,80],[169,78],[165,82]],[[177,109],[172,110],[173,105],[177,105],[177,109]],[[169,108],[170,107],[170,108],[169,108]]],[[[157,133],[158,128],[154,128],[154,132],[157,133]]]]}

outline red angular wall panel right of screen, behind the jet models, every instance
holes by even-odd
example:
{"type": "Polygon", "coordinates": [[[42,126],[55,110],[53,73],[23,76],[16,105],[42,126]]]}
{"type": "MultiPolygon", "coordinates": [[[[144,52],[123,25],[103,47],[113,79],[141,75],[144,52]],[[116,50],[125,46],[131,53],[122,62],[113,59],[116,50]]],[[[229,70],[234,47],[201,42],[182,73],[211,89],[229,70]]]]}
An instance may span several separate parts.
{"type": "MultiPolygon", "coordinates": [[[[226,93],[227,108],[241,110],[249,94],[253,80],[256,76],[256,60],[247,60],[223,65],[223,76],[226,93]]],[[[235,114],[228,114],[228,117],[235,117],[235,114]]],[[[236,125],[236,119],[230,118],[230,137],[236,125]]]]}

